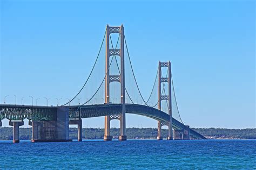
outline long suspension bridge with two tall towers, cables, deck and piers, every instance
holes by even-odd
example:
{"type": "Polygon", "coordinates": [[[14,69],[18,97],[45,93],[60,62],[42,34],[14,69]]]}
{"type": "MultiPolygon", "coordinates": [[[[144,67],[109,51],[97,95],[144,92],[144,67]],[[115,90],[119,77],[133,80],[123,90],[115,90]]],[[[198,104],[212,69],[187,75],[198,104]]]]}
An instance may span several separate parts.
{"type": "Polygon", "coordinates": [[[24,119],[29,119],[32,126],[33,142],[69,141],[69,125],[73,124],[78,126],[78,141],[82,141],[82,119],[105,116],[104,140],[112,140],[113,119],[120,121],[119,140],[126,140],[126,114],[155,119],[159,140],[163,139],[162,126],[169,129],[168,140],[206,139],[181,120],[171,62],[159,61],[150,95],[144,97],[132,67],[123,25],[107,25],[90,74],[71,100],[56,107],[0,104],[0,126],[3,119],[9,119],[9,125],[14,127],[13,141],[17,143],[24,119]]]}

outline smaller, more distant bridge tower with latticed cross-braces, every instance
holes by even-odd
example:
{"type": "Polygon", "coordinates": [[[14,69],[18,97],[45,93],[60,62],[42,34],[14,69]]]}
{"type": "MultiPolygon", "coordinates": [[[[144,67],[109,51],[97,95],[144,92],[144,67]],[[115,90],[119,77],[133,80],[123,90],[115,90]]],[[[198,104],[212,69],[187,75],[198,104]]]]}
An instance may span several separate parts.
{"type": "MultiPolygon", "coordinates": [[[[169,111],[168,114],[170,115],[169,122],[158,121],[158,140],[162,140],[163,137],[161,136],[161,127],[167,125],[169,128],[167,140],[172,140],[172,89],[171,89],[171,62],[160,62],[158,66],[158,109],[161,110],[161,101],[167,100],[169,111]],[[168,68],[168,77],[161,77],[161,68],[167,67],[168,68]],[[161,83],[168,83],[168,95],[161,95],[161,83]]],[[[166,88],[165,88],[166,89],[166,88]]]]}

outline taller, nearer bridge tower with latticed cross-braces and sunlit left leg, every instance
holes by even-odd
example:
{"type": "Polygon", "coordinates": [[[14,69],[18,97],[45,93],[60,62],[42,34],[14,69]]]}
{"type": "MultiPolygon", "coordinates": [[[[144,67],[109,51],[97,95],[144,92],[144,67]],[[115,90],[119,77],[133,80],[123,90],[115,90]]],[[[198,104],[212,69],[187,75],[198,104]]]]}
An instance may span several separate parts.
{"type": "Polygon", "coordinates": [[[105,103],[110,103],[110,83],[117,81],[120,82],[121,86],[121,104],[122,113],[119,115],[105,116],[105,132],[104,140],[112,140],[110,136],[110,121],[112,119],[119,119],[120,121],[120,136],[119,140],[126,140],[125,134],[125,74],[124,74],[124,27],[121,26],[106,26],[106,66],[105,66],[105,103]],[[119,33],[120,34],[120,48],[111,49],[110,48],[110,34],[119,33]],[[110,56],[118,55],[120,56],[120,74],[110,75],[110,56]]]}

